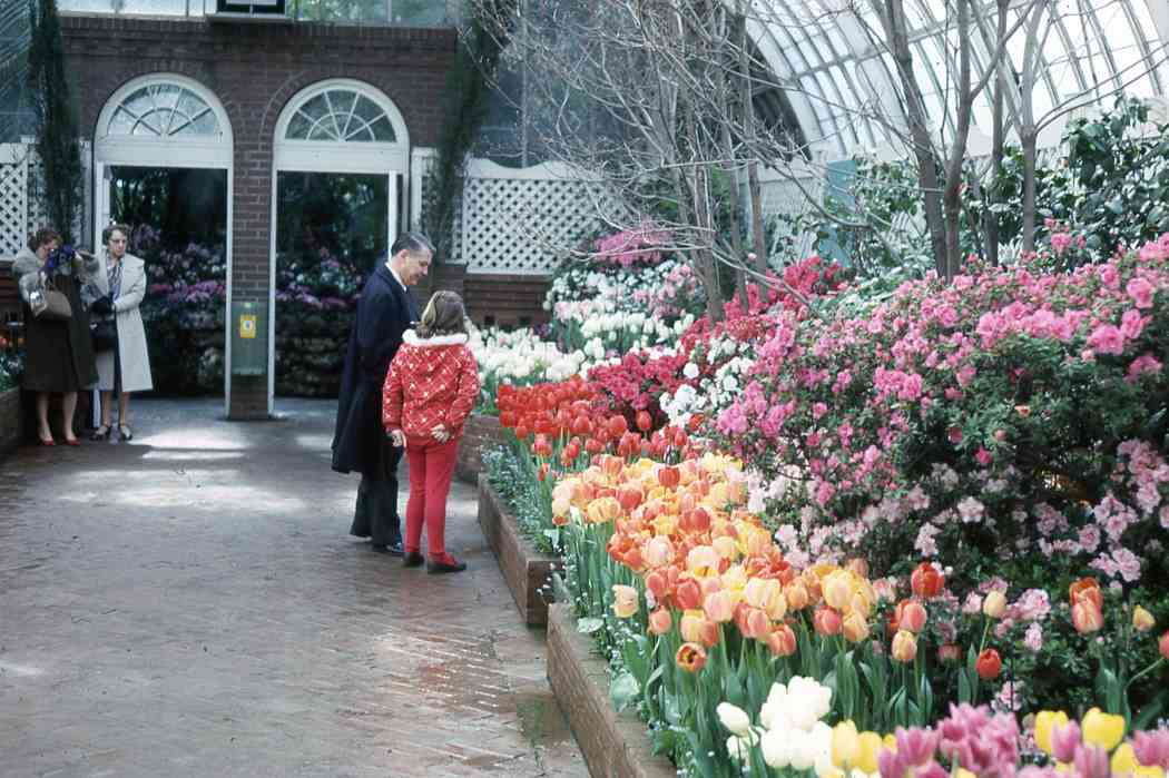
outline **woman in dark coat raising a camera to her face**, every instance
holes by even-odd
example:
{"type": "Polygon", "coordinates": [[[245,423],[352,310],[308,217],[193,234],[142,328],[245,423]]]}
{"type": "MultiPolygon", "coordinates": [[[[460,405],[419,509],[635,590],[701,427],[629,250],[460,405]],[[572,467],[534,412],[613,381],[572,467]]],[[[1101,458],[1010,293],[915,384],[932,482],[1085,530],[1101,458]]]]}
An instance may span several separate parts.
{"type": "Polygon", "coordinates": [[[89,335],[89,315],[81,303],[81,284],[97,269],[97,259],[82,259],[71,251],[58,251],[61,236],[47,228],[33,235],[28,248],[16,255],[12,272],[25,301],[23,387],[36,393],[36,435],[41,445],[53,445],[49,426],[49,394],[61,393],[61,429],[65,443],[79,445],[72,418],[77,390],[97,383],[97,367],[89,335]],[[51,259],[51,261],[50,261],[51,259]],[[51,286],[65,296],[72,315],[69,319],[36,317],[29,307],[35,292],[51,286]]]}

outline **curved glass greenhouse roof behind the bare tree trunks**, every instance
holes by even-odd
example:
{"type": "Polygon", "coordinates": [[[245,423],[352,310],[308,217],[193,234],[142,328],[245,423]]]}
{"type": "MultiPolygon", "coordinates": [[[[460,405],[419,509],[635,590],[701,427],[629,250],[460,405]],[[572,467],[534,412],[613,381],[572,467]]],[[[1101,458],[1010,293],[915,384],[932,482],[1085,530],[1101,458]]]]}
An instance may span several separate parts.
{"type": "MultiPolygon", "coordinates": [[[[996,53],[1009,62],[1017,84],[1004,93],[1009,126],[1024,107],[1023,74],[1033,74],[1040,145],[1053,145],[1070,116],[1108,107],[1119,92],[1167,97],[1169,0],[1009,0],[1004,44],[996,4],[969,2],[968,36],[957,0],[754,0],[748,14],[810,151],[828,159],[888,146],[887,128],[904,125],[901,81],[877,11],[892,5],[904,7],[913,71],[940,139],[953,128],[961,41],[969,41],[975,82],[996,53]]],[[[982,90],[973,106],[973,152],[989,144],[991,95],[982,90]]]]}

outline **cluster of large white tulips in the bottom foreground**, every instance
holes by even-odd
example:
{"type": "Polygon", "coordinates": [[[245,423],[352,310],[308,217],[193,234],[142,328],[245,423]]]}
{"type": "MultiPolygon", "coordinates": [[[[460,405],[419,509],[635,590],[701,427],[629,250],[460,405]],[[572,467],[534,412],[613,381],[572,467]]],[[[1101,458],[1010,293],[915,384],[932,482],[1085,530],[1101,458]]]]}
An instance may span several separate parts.
{"type": "Polygon", "coordinates": [[[831,708],[832,689],[796,675],[787,685],[772,686],[759,709],[759,725],[752,725],[746,711],[727,702],[717,711],[731,731],[727,751],[733,758],[747,762],[750,749],[759,746],[769,767],[815,769],[825,774],[832,766],[832,729],[821,720],[831,708]]]}

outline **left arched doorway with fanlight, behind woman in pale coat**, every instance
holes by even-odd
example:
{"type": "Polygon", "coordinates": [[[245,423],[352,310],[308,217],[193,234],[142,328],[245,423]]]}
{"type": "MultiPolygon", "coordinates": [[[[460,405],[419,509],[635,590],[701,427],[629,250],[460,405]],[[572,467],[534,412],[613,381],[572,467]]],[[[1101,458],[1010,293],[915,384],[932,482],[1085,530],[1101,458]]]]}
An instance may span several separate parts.
{"type": "Polygon", "coordinates": [[[148,251],[152,290],[144,306],[159,307],[161,317],[153,327],[147,320],[155,388],[222,391],[224,408],[230,407],[230,343],[221,343],[231,296],[231,171],[227,112],[192,78],[171,72],[134,78],[98,114],[94,242],[101,243],[110,222],[125,222],[136,228],[139,251],[148,251]],[[198,292],[186,292],[191,289],[198,292]],[[205,347],[213,341],[214,349],[205,347]]]}

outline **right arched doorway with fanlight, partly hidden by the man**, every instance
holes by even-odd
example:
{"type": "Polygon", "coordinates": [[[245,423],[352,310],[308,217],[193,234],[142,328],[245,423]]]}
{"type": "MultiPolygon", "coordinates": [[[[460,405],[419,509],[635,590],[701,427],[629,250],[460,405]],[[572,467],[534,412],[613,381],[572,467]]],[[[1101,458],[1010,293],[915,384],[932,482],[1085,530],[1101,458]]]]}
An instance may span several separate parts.
{"type": "Polygon", "coordinates": [[[397,107],[359,81],[319,82],[282,111],[272,154],[270,411],[277,394],[336,393],[344,341],[336,342],[348,331],[353,280],[373,270],[406,223],[409,148],[397,107]],[[343,289],[326,278],[338,275],[343,289]]]}

